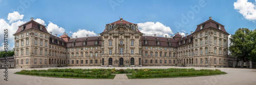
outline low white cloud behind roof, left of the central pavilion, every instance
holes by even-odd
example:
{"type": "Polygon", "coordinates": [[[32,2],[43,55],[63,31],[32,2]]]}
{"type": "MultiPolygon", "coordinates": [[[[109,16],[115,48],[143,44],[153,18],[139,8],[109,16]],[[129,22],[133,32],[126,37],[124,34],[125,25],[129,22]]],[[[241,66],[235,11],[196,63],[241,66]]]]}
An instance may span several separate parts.
{"type": "Polygon", "coordinates": [[[93,31],[87,31],[87,30],[84,30],[84,29],[83,30],[79,29],[77,32],[72,33],[73,38],[75,36],[77,36],[78,38],[86,37],[86,35],[89,35],[89,37],[92,37],[92,36],[96,36],[96,33],[94,33],[93,31]]]}

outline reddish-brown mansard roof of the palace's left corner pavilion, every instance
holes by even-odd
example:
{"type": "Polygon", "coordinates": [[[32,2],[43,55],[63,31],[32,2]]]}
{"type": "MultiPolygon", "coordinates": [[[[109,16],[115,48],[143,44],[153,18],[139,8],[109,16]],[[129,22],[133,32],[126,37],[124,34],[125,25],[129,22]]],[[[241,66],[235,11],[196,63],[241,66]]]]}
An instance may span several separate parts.
{"type": "MultiPolygon", "coordinates": [[[[23,31],[26,31],[26,30],[29,30],[29,29],[34,29],[34,30],[37,30],[37,31],[41,31],[41,32],[44,32],[44,33],[48,33],[48,31],[46,30],[46,26],[45,25],[42,25],[34,20],[30,20],[28,21],[27,23],[24,23],[20,26],[18,26],[18,30],[16,31],[15,34],[18,34],[20,32],[23,32],[23,31]],[[24,26],[24,30],[22,30],[22,26],[24,26]],[[40,30],[40,26],[42,26],[42,30],[40,30]]],[[[13,35],[15,35],[13,34],[13,35]]]]}

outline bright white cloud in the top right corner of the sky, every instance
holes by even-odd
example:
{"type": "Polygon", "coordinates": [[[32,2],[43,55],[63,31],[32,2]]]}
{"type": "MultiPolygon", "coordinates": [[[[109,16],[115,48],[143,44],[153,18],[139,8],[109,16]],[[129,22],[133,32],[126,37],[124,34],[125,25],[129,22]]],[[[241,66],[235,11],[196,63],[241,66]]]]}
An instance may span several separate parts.
{"type": "Polygon", "coordinates": [[[234,9],[239,10],[238,12],[246,19],[256,20],[256,6],[253,3],[247,2],[247,0],[238,0],[234,3],[234,9]]]}

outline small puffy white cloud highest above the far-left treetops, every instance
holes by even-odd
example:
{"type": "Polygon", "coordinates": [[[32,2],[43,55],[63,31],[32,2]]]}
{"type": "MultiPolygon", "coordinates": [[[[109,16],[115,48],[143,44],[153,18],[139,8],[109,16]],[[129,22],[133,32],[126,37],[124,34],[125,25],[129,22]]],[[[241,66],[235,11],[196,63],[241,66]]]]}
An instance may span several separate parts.
{"type": "Polygon", "coordinates": [[[20,15],[18,12],[14,11],[13,13],[9,13],[8,14],[8,20],[9,20],[9,23],[13,22],[13,21],[17,21],[17,20],[20,20],[20,19],[23,19],[24,15],[20,15]]]}

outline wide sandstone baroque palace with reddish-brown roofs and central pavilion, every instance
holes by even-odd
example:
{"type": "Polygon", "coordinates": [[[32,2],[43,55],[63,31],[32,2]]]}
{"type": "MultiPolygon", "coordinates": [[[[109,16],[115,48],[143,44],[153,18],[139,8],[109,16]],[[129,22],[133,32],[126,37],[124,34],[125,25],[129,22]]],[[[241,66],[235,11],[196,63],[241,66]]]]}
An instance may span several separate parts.
{"type": "Polygon", "coordinates": [[[31,18],[15,36],[15,67],[57,66],[194,66],[227,67],[228,33],[212,20],[196,31],[171,37],[144,36],[138,25],[120,20],[105,25],[98,36],[52,35],[31,18]]]}

